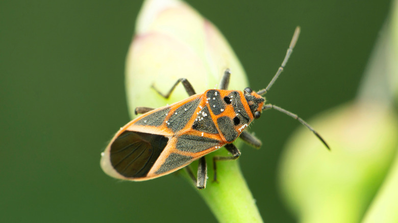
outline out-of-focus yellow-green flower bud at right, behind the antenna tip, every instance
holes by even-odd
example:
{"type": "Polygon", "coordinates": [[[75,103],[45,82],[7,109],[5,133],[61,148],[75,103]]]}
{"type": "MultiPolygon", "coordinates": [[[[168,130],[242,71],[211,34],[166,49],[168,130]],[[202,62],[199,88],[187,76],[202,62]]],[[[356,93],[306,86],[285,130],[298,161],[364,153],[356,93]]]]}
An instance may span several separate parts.
{"type": "Polygon", "coordinates": [[[301,222],[359,222],[393,161],[397,118],[384,104],[358,102],[317,120],[331,151],[304,127],[294,134],[280,166],[283,197],[301,222]]]}

